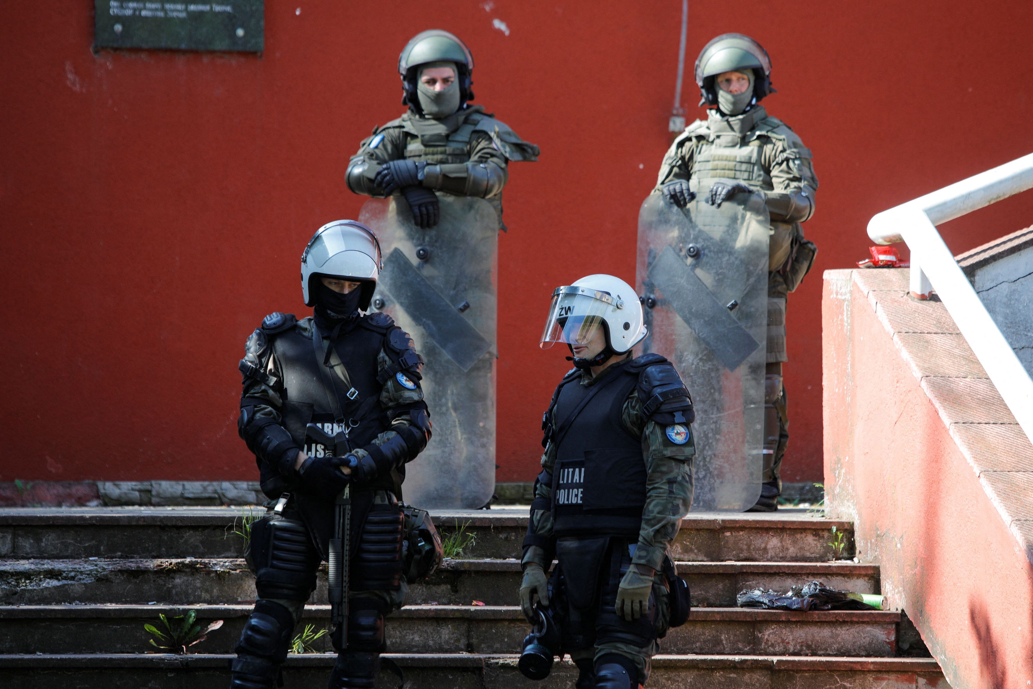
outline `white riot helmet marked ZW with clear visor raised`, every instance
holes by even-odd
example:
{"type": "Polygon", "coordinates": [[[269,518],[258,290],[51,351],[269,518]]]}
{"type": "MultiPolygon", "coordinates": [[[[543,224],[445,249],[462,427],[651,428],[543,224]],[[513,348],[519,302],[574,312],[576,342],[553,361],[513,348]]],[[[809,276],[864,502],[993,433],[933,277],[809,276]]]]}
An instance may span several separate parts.
{"type": "Polygon", "coordinates": [[[539,346],[588,342],[601,326],[609,350],[603,352],[624,354],[646,337],[643,320],[643,307],[631,285],[612,275],[590,275],[553,292],[539,346]]]}

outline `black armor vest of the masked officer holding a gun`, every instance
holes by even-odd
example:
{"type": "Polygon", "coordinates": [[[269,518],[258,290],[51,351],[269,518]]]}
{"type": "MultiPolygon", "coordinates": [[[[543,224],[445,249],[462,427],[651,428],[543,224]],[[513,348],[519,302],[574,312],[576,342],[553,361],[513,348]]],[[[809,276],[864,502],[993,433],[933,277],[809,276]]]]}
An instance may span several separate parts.
{"type": "MultiPolygon", "coordinates": [[[[341,333],[335,343],[338,356],[347,369],[351,387],[357,393],[354,399],[348,398],[349,388],[341,377],[330,372],[352,449],[370,444],[377,435],[388,430],[380,405],[363,404],[369,398],[380,395],[382,385],[377,382],[377,356],[383,349],[386,335],[380,328],[364,323],[364,319],[359,319],[347,333],[341,333]]],[[[321,330],[320,334],[326,335],[321,330]]],[[[326,340],[323,343],[325,345],[326,340]]],[[[322,354],[317,358],[312,338],[296,327],[278,335],[273,348],[283,373],[283,427],[300,447],[306,448],[306,453],[319,456],[321,452],[333,452],[333,448],[322,448],[321,445],[311,447],[305,437],[309,424],[319,424],[331,434],[339,430],[334,428],[334,406],[328,397],[335,390],[326,389],[325,377],[319,371],[319,367],[323,366],[322,354]]],[[[321,352],[322,346],[319,349],[321,352]]],[[[401,467],[398,469],[399,476],[378,476],[369,487],[364,486],[364,490],[397,492],[397,483],[404,477],[404,471],[405,468],[401,467]]]]}

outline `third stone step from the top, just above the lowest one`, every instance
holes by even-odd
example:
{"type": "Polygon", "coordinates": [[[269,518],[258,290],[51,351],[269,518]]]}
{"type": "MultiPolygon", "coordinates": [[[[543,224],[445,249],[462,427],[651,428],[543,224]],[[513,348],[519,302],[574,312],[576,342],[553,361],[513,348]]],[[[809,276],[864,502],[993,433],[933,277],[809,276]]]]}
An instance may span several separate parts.
{"type": "MultiPolygon", "coordinates": [[[[223,620],[198,645],[205,653],[231,653],[251,605],[26,605],[0,607],[0,653],[136,653],[152,647],[146,623],[158,615],[197,612],[198,621],[223,620]]],[[[711,607],[661,641],[665,653],[890,657],[897,651],[899,613],[815,612],[711,607]]],[[[207,622],[204,622],[207,624],[207,622]]],[[[311,605],[304,624],[331,628],[330,606],[311,605]]],[[[512,653],[530,627],[516,606],[415,605],[387,619],[395,653],[512,653]]],[[[317,650],[331,651],[320,639],[317,650]]]]}

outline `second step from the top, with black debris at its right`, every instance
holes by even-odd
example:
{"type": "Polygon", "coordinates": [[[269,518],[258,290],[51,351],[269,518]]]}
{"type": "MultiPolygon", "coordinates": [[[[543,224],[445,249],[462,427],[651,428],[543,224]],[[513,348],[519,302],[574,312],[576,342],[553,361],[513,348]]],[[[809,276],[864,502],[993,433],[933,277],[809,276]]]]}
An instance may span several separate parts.
{"type": "MultiPolygon", "coordinates": [[[[693,604],[732,606],[744,589],[786,591],[819,580],[857,593],[879,592],[875,565],[853,562],[680,562],[693,604]]],[[[428,582],[409,588],[411,604],[519,602],[516,560],[446,560],[428,582]]],[[[325,565],[313,600],[326,600],[325,565]]],[[[255,598],[254,575],[241,559],[2,560],[0,604],[237,603],[255,598]]]]}

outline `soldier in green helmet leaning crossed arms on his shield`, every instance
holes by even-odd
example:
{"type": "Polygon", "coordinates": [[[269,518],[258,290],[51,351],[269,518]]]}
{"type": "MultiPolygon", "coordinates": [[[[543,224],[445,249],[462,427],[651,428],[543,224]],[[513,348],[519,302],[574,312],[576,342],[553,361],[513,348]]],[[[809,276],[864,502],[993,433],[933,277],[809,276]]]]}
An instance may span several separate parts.
{"type": "Polygon", "coordinates": [[[417,34],[402,51],[398,71],[409,112],[363,142],[348,164],[348,188],[369,196],[401,193],[422,228],[438,223],[436,191],[484,198],[501,225],[506,167],[536,160],[538,147],[470,104],[473,55],[447,31],[417,34]]]}

